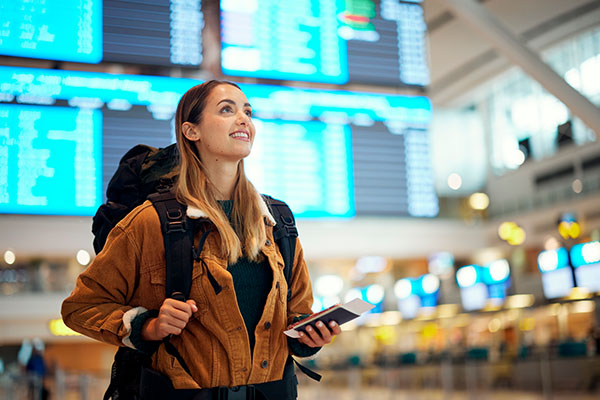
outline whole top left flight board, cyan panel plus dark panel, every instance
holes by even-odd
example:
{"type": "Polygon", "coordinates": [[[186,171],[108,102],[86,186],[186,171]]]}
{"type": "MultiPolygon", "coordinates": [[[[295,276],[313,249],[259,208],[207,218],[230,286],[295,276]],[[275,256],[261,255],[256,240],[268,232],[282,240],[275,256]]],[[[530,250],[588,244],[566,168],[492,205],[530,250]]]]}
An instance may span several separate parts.
{"type": "Polygon", "coordinates": [[[0,2],[0,54],[198,67],[201,0],[0,2]]]}

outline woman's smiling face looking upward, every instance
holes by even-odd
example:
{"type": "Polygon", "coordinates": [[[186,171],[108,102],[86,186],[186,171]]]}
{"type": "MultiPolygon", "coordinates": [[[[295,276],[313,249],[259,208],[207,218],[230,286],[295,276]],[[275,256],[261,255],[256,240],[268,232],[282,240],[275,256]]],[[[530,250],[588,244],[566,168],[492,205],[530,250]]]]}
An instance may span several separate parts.
{"type": "Polygon", "coordinates": [[[254,142],[252,107],[235,86],[216,86],[208,95],[199,124],[183,124],[184,135],[195,142],[205,162],[238,162],[250,154],[254,142]]]}

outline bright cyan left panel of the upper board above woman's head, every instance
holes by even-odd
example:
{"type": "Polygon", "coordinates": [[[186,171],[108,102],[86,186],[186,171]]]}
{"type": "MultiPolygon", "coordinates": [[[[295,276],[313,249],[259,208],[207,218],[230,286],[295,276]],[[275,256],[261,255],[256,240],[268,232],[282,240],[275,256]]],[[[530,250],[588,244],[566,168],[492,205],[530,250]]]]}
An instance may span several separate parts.
{"type": "Polygon", "coordinates": [[[221,67],[230,75],[345,83],[343,0],[221,2],[221,67]]]}

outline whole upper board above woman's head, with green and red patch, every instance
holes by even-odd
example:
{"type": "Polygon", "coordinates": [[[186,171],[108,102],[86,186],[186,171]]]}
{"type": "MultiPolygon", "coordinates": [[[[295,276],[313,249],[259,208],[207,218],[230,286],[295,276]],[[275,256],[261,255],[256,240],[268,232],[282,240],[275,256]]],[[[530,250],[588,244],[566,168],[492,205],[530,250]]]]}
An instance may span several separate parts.
{"type": "Polygon", "coordinates": [[[419,3],[222,0],[221,68],[232,76],[426,86],[419,3]]]}

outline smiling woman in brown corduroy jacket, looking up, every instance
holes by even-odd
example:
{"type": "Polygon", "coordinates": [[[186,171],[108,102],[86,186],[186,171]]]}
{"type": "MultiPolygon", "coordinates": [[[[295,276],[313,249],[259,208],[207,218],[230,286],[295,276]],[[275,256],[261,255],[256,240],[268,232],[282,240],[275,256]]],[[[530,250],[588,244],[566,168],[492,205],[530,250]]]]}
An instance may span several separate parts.
{"type": "MultiPolygon", "coordinates": [[[[283,260],[272,235],[275,221],[244,174],[243,159],[255,136],[252,108],[237,85],[208,81],[184,94],[175,122],[177,199],[187,205],[189,217],[207,221],[200,230],[209,232],[203,262],[194,263],[189,300],[164,298],[162,233],[146,201],[119,222],[79,276],[63,303],[63,319],[84,335],[153,353],[152,368],[175,389],[278,381],[284,369],[289,380],[289,353],[312,355],[340,328],[321,324],[297,340],[283,334],[291,322],[310,314],[312,291],[297,243],[287,301],[283,260]],[[213,290],[209,278],[222,290],[213,290]],[[170,335],[189,374],[160,346],[170,335]]],[[[190,391],[178,393],[189,398],[190,391]]],[[[295,397],[294,387],[277,399],[295,397]]]]}

